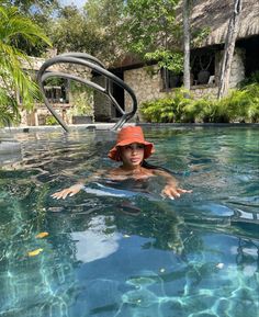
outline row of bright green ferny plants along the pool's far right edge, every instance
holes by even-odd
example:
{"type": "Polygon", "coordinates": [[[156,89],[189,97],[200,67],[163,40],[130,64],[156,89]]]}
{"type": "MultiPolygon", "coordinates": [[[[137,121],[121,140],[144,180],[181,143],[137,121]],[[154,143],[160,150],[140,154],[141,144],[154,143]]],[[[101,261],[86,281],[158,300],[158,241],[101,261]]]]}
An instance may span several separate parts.
{"type": "Polygon", "coordinates": [[[176,90],[167,98],[144,102],[140,112],[147,122],[259,122],[259,84],[232,91],[222,100],[204,97],[187,98],[184,90],[176,90]]]}

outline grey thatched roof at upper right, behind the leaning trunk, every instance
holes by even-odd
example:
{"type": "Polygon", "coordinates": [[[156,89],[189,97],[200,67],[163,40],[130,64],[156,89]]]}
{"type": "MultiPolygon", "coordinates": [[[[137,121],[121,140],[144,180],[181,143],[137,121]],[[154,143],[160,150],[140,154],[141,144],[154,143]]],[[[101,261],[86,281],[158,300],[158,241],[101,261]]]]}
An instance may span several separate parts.
{"type": "MultiPolygon", "coordinates": [[[[202,46],[225,42],[234,0],[194,0],[192,26],[210,27],[210,35],[202,46]]],[[[259,35],[259,0],[243,0],[240,27],[237,38],[259,35]]]]}

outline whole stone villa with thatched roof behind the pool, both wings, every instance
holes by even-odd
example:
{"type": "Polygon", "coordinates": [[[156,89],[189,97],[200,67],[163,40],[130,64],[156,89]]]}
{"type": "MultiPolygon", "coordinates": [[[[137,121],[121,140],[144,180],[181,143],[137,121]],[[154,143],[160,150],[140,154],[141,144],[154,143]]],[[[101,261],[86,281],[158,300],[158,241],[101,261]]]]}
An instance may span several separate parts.
{"type": "MultiPolygon", "coordinates": [[[[221,60],[224,50],[224,42],[227,33],[229,18],[233,12],[233,1],[198,0],[191,14],[191,27],[198,30],[207,27],[209,35],[203,38],[199,47],[191,50],[191,92],[195,98],[202,95],[216,97],[218,89],[218,76],[221,60]]],[[[259,2],[257,0],[244,0],[239,32],[237,35],[234,59],[232,63],[229,88],[236,88],[245,78],[259,70],[259,2]]],[[[44,59],[35,59],[34,71],[40,69],[44,59]]],[[[182,84],[182,75],[169,72],[167,82],[164,70],[154,61],[147,65],[128,55],[120,60],[116,66],[109,69],[124,80],[135,92],[138,104],[142,102],[162,98],[169,91],[182,84]]],[[[70,71],[78,72],[77,69],[70,71]]],[[[88,76],[92,81],[102,84],[103,77],[98,73],[89,73],[80,69],[80,76],[88,76]]],[[[124,110],[130,110],[131,99],[124,90],[112,86],[113,95],[124,110]]],[[[74,98],[68,80],[59,86],[46,87],[46,94],[53,101],[55,109],[67,123],[71,123],[69,110],[74,107],[74,98]]],[[[93,115],[97,122],[116,121],[120,113],[105,95],[93,92],[93,115]]],[[[23,124],[46,124],[48,111],[45,106],[37,106],[33,113],[25,113],[23,124]]]]}

